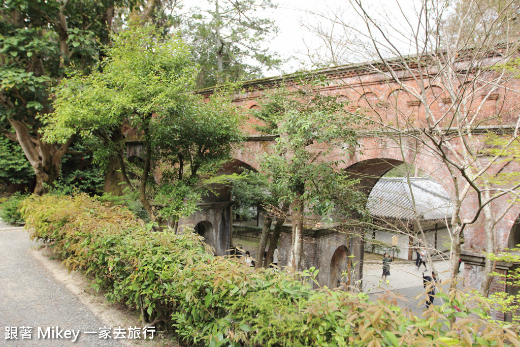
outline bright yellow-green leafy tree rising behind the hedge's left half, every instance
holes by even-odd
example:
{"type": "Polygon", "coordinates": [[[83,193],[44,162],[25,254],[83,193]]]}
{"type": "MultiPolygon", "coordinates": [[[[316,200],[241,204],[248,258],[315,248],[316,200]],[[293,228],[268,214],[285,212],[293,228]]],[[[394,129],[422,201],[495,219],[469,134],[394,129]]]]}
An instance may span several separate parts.
{"type": "MultiPolygon", "coordinates": [[[[220,94],[204,100],[190,93],[197,69],[179,38],[145,25],[112,41],[98,69],[58,86],[55,112],[46,118],[46,139],[63,142],[75,134],[97,139],[92,141],[97,161],[118,158],[127,187],[156,220],[150,201],[158,192],[152,163],[164,165],[161,186],[194,186],[206,166],[228,158],[233,144],[242,140],[241,116],[220,94]],[[127,137],[123,127],[130,129],[127,137]],[[142,144],[133,162],[125,160],[128,139],[142,144]]],[[[162,202],[167,191],[160,194],[162,202]]]]}

